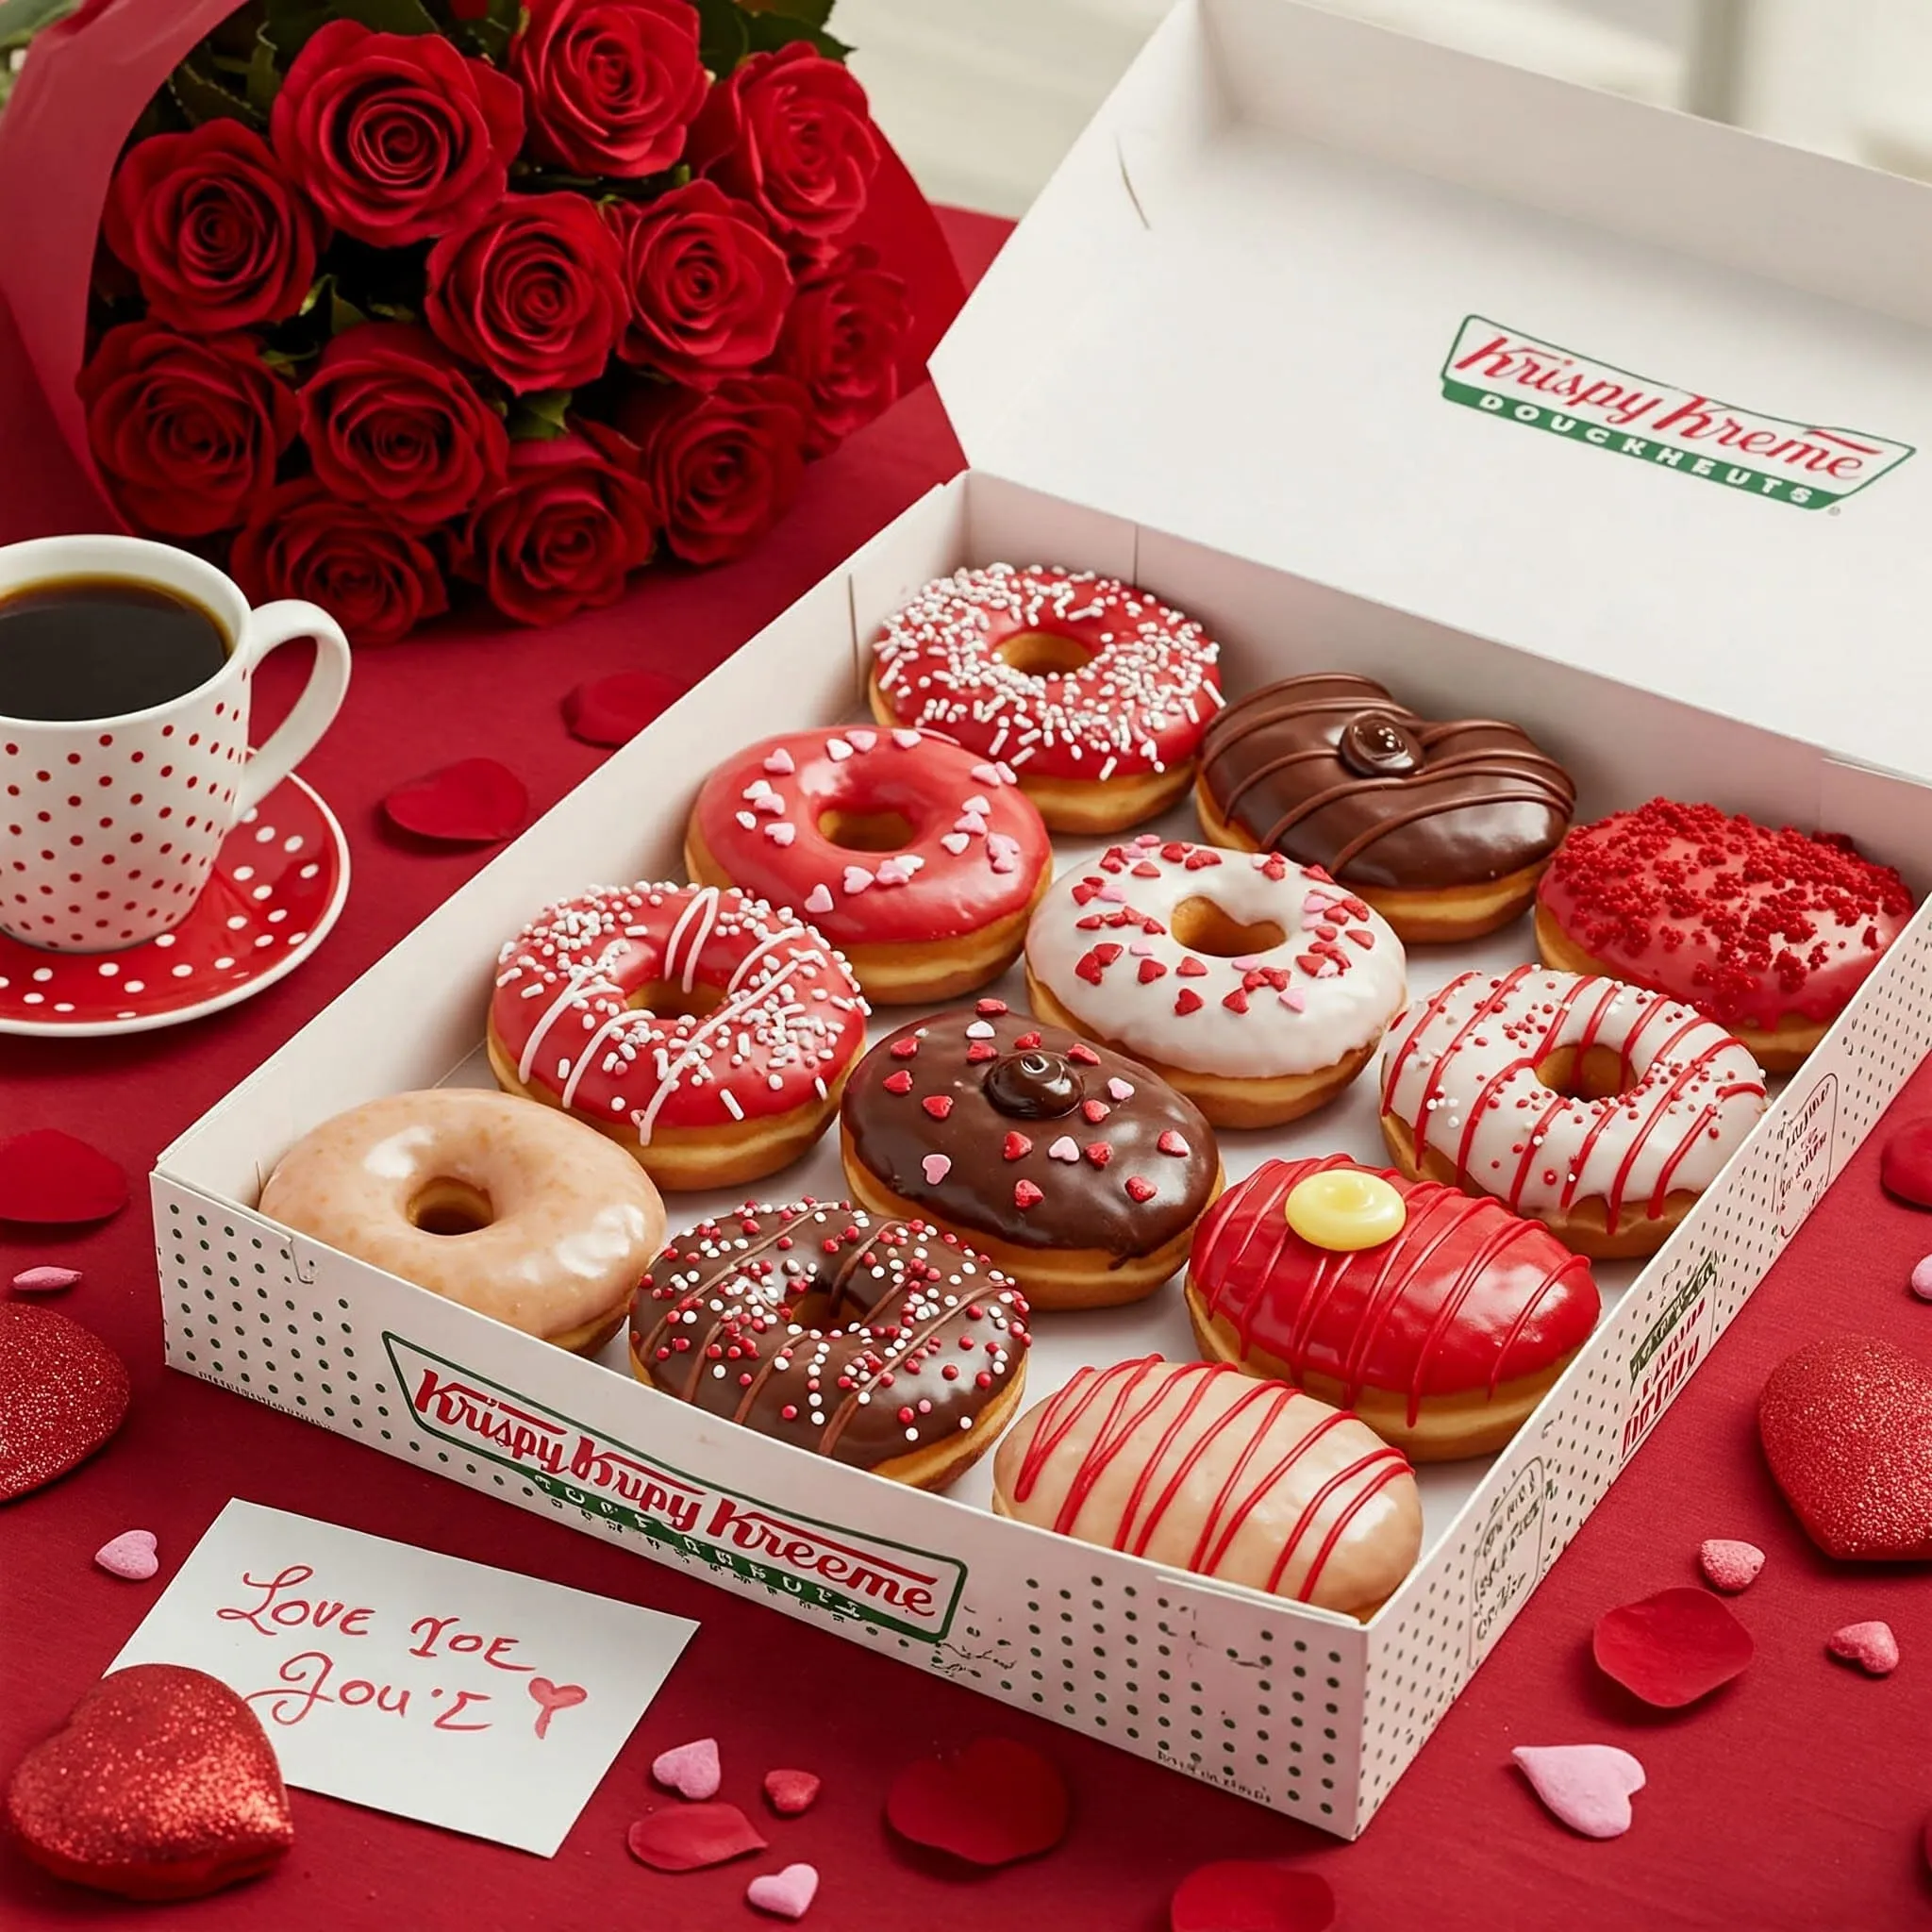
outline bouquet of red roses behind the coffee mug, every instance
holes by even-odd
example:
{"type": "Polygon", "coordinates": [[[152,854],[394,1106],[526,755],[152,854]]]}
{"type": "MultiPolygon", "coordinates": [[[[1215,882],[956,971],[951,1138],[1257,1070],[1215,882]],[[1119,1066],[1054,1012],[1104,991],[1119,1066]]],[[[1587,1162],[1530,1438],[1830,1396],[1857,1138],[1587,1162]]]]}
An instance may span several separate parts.
{"type": "Polygon", "coordinates": [[[547,624],[746,551],[937,334],[829,10],[203,8],[108,156],[70,433],[116,508],[359,643],[464,585],[547,624]]]}

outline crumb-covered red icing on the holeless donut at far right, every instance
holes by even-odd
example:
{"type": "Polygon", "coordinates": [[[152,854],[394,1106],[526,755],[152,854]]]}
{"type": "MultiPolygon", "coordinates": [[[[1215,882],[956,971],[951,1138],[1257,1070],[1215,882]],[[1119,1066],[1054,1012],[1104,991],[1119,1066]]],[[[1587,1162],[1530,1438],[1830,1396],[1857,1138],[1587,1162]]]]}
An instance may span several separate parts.
{"type": "Polygon", "coordinates": [[[1830,1020],[1913,912],[1841,840],[1667,798],[1573,831],[1538,902],[1619,976],[1756,1028],[1830,1020]]]}

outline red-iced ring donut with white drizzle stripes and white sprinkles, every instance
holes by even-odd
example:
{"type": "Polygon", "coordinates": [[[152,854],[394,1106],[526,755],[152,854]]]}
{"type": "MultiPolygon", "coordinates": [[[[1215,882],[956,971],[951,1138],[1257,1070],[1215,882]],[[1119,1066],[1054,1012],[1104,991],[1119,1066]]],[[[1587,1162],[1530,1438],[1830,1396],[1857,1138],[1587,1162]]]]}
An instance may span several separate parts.
{"type": "Polygon", "coordinates": [[[504,1092],[622,1142],[661,1188],[734,1186],[819,1138],[866,1014],[796,914],[715,885],[597,887],[498,954],[489,1057],[504,1092]]]}

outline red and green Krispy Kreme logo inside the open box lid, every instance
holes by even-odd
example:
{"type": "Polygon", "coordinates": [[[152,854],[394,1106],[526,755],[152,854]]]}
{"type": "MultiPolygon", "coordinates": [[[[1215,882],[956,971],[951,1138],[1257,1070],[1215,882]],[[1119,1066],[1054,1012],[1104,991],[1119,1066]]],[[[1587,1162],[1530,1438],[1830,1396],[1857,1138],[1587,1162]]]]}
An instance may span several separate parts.
{"type": "Polygon", "coordinates": [[[1760,415],[1538,342],[1470,315],[1443,361],[1443,396],[1505,423],[1799,510],[1855,497],[1913,454],[1855,429],[1760,415]]]}

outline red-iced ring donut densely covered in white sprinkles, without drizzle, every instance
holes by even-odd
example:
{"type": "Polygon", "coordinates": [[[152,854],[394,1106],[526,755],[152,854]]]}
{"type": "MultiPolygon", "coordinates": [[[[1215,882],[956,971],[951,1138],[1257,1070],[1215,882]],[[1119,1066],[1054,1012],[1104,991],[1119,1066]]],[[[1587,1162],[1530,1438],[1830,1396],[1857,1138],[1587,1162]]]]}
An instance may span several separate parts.
{"type": "Polygon", "coordinates": [[[1117,578],[1032,564],[927,583],[873,645],[881,724],[929,724],[1001,761],[1057,833],[1171,806],[1221,705],[1219,647],[1117,578]]]}

